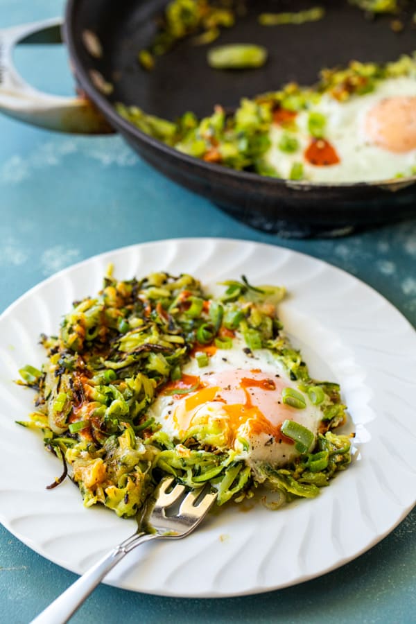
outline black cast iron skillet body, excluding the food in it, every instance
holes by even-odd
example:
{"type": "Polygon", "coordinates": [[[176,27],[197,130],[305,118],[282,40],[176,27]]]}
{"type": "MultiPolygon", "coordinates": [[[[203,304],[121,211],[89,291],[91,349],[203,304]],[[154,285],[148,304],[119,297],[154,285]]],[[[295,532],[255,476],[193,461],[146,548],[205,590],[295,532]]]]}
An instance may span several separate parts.
{"type": "Polygon", "coordinates": [[[356,227],[388,223],[416,214],[416,177],[362,184],[305,184],[236,172],[178,153],[122,119],[117,101],[173,119],[186,110],[211,114],[221,103],[235,107],[242,96],[278,89],[290,80],[315,82],[322,67],[349,60],[386,62],[416,48],[415,30],[397,35],[391,18],[370,21],[347,0],[327,0],[322,21],[302,26],[265,28],[257,24],[263,11],[300,10],[311,1],[252,0],[248,15],[224,29],[216,43],[266,45],[266,67],[248,71],[214,71],[205,60],[207,46],[183,41],[146,72],[137,53],[153,39],[155,17],[166,0],[69,0],[64,38],[80,87],[110,124],[150,164],[185,187],[216,202],[254,227],[292,236],[340,234],[356,227]],[[103,47],[101,58],[85,48],[83,33],[92,31],[103,47]],[[106,96],[92,82],[99,71],[114,85],[106,96]]]}

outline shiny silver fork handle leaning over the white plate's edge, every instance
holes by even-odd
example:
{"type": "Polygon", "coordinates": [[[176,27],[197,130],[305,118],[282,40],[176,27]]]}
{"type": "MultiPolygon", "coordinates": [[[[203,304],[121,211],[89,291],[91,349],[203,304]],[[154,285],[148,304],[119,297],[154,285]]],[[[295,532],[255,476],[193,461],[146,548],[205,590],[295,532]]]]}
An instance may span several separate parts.
{"type": "Polygon", "coordinates": [[[88,598],[92,590],[127,553],[139,544],[143,544],[144,541],[149,541],[155,537],[158,537],[157,534],[141,533],[123,541],[70,585],[58,598],[53,600],[53,603],[46,607],[32,621],[32,624],[64,624],[67,622],[88,598]]]}

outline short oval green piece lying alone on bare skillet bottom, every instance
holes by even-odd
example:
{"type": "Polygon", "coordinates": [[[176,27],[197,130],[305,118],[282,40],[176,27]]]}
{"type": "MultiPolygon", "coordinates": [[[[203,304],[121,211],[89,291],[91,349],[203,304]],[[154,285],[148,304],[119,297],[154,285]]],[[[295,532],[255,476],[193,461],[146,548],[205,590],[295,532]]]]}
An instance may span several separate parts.
{"type": "Polygon", "coordinates": [[[207,60],[213,69],[255,69],[263,67],[268,53],[263,46],[228,44],[209,50],[207,60]]]}

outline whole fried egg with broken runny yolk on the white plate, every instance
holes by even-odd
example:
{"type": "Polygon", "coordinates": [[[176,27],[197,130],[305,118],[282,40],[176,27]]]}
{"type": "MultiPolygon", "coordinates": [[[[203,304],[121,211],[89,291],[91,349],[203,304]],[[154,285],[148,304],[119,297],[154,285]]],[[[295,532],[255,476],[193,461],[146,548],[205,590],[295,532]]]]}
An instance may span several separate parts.
{"type": "Polygon", "coordinates": [[[313,433],[313,449],[322,412],[267,349],[252,354],[239,338],[231,349],[207,349],[208,365],[200,368],[193,356],[181,379],[168,383],[150,408],[162,431],[178,442],[194,438],[202,446],[232,449],[248,465],[281,467],[300,455],[281,432],[284,421],[292,420],[313,433]],[[285,404],[284,388],[300,392],[305,408],[285,404]]]}

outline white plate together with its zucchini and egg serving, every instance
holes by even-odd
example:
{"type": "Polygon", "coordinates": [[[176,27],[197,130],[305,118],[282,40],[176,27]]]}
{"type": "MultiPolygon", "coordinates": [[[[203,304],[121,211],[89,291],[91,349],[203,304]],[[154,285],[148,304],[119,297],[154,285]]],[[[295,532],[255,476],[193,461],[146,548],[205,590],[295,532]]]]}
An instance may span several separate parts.
{"type": "MultiPolygon", "coordinates": [[[[186,540],[156,545],[149,551],[144,547],[134,556],[132,553],[108,579],[119,587],[194,597],[285,587],[363,553],[397,526],[415,503],[412,386],[406,383],[413,374],[410,354],[414,330],[370,288],[316,259],[275,246],[220,239],[135,245],[53,276],[3,313],[0,324],[1,521],[31,548],[67,569],[84,572],[103,551],[135,530],[134,519],[121,519],[103,504],[94,504],[94,496],[98,502],[103,492],[116,512],[129,513],[129,502],[135,503],[135,480],[137,485],[151,485],[151,479],[157,480],[162,471],[173,471],[185,483],[189,479],[189,484],[199,476],[209,478],[218,496],[224,498],[233,494],[234,487],[243,485],[234,497],[238,500],[244,495],[244,499],[234,503],[230,498],[220,505],[202,529],[186,540]],[[182,276],[187,284],[177,281],[182,279],[181,270],[189,267],[189,259],[204,285],[203,292],[189,277],[182,276]],[[108,290],[96,297],[94,293],[111,264],[117,278],[109,278],[105,283],[108,290]],[[164,292],[165,284],[158,284],[166,278],[153,274],[141,282],[139,277],[150,276],[152,270],[162,267],[175,276],[166,284],[178,288],[177,294],[184,289],[192,293],[182,295],[171,311],[173,291],[166,288],[164,292]],[[221,286],[230,275],[250,279],[238,278],[221,286]],[[123,281],[126,277],[130,277],[127,283],[123,281]],[[134,293],[129,295],[128,291],[135,284],[139,288],[133,309],[130,301],[134,293]],[[285,284],[288,294],[279,300],[281,287],[274,291],[259,288],[264,284],[285,284]],[[229,288],[231,292],[226,294],[229,288]],[[263,300],[265,291],[268,304],[263,300]],[[114,305],[117,295],[122,295],[118,303],[126,304],[125,309],[114,305]],[[149,298],[153,303],[148,307],[149,298]],[[215,302],[223,307],[223,329],[214,335],[215,322],[220,318],[215,302]],[[274,312],[276,304],[279,320],[274,312]],[[146,309],[150,316],[146,316],[146,309]],[[166,331],[162,310],[173,316],[170,331],[166,331]],[[240,311],[244,311],[243,316],[240,311]],[[120,323],[116,325],[117,319],[120,323]],[[237,320],[238,329],[226,327],[237,320]],[[53,338],[60,324],[60,338],[53,338]],[[381,344],[380,336],[388,335],[392,327],[394,344],[381,344]],[[94,336],[96,329],[101,336],[94,336]],[[44,347],[38,344],[42,331],[49,336],[42,338],[49,352],[46,358],[44,347]],[[189,356],[177,361],[182,375],[175,379],[180,338],[184,333],[191,338],[193,331],[199,333],[200,340],[198,345],[193,340],[187,343],[189,356]],[[116,338],[112,352],[106,351],[110,333],[116,338]],[[272,344],[268,340],[269,348],[264,350],[259,348],[259,340],[266,336],[272,344]],[[285,340],[287,336],[292,347],[285,340]],[[166,338],[173,338],[173,342],[166,338]],[[226,348],[229,340],[234,348],[226,348]],[[95,349],[85,348],[87,343],[94,343],[95,349]],[[152,354],[148,346],[143,347],[149,343],[162,349],[153,347],[152,354]],[[395,357],[398,348],[400,358],[395,357]],[[250,349],[254,357],[243,349],[250,349]],[[394,376],[390,374],[392,358],[394,376]],[[25,363],[40,370],[42,361],[44,389],[40,404],[33,408],[31,389],[13,384],[12,379],[25,363]],[[312,379],[306,374],[306,363],[312,379]],[[128,365],[125,374],[123,364],[128,365]],[[216,371],[209,374],[214,364],[216,371]],[[134,367],[141,367],[142,372],[132,379],[134,367]],[[297,379],[288,374],[288,367],[297,379]],[[107,370],[113,374],[106,374],[107,370]],[[169,379],[158,386],[164,375],[169,379]],[[388,387],[386,378],[390,379],[388,387]],[[338,385],[331,388],[313,379],[340,383],[341,401],[338,385]],[[146,394],[139,390],[139,382],[146,385],[146,394]],[[150,397],[155,388],[158,396],[153,395],[153,404],[147,409],[147,420],[153,419],[153,423],[146,424],[135,411],[141,408],[135,401],[150,397]],[[187,404],[189,399],[191,404],[187,404]],[[173,404],[168,405],[171,401],[173,404]],[[274,422],[269,409],[273,401],[274,422]],[[343,419],[345,405],[352,422],[339,431],[332,429],[336,420],[331,423],[328,418],[343,419]],[[188,426],[184,407],[189,408],[193,419],[189,429],[193,440],[182,433],[188,426]],[[64,451],[69,473],[72,478],[76,476],[79,489],[68,478],[58,487],[46,489],[46,485],[56,483],[54,476],[59,480],[62,457],[42,451],[40,435],[15,423],[27,422],[31,410],[37,413],[32,424],[44,428],[46,447],[57,455],[64,451]],[[289,425],[286,421],[291,419],[293,424],[289,425]],[[145,427],[140,431],[142,425],[145,427]],[[312,446],[312,437],[318,438],[318,444],[321,440],[322,444],[335,442],[337,446],[343,440],[340,434],[348,436],[352,431],[356,433],[354,441],[345,438],[343,448],[312,446]],[[389,443],[393,432],[394,447],[389,443]],[[277,442],[270,444],[271,437],[277,442]],[[308,444],[311,446],[305,451],[308,444]],[[347,444],[354,444],[350,463],[352,451],[347,444]],[[149,457],[144,456],[146,447],[149,457]],[[279,465],[284,459],[281,455],[286,454],[284,448],[294,459],[279,465]],[[19,459],[23,454],[25,462],[19,459]],[[191,462],[192,458],[197,461],[191,462]],[[159,466],[157,460],[162,460],[159,466]],[[133,464],[137,468],[131,469],[133,464]],[[272,470],[265,473],[266,465],[272,470]],[[143,478],[146,466],[147,483],[143,478]],[[336,466],[346,469],[332,471],[336,466]],[[257,468],[259,476],[254,473],[257,468]],[[331,471],[335,474],[332,480],[331,471]],[[266,505],[273,509],[287,494],[292,499],[277,511],[265,508],[263,501],[252,496],[261,491],[253,477],[259,483],[265,476],[278,485],[277,498],[267,489],[261,494],[267,497],[266,505]],[[329,487],[318,487],[318,492],[312,487],[325,483],[329,487]],[[81,503],[80,492],[89,507],[81,503]],[[311,498],[299,496],[308,492],[313,494],[311,498]]],[[[23,372],[31,383],[41,376],[36,370],[23,372]]]]}

